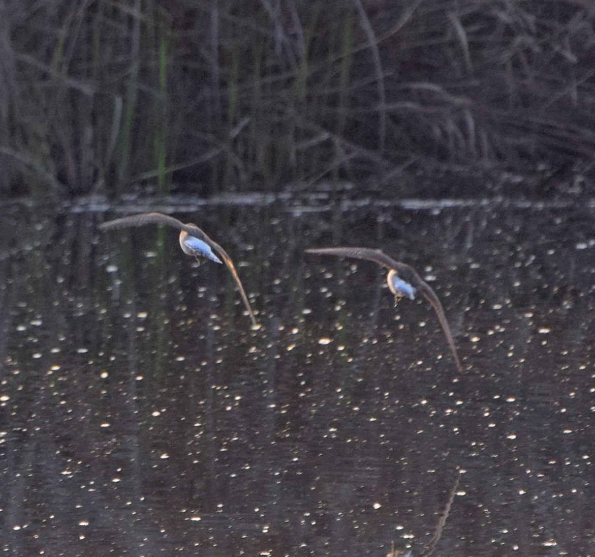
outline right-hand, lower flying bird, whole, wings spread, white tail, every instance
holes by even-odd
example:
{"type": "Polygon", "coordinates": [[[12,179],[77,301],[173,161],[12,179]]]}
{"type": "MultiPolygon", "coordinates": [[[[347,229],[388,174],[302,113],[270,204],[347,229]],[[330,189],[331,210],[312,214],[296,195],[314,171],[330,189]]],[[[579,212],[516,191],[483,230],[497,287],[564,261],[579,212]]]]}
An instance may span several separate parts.
{"type": "Polygon", "coordinates": [[[450,351],[455,358],[456,367],[459,372],[463,371],[459,355],[456,352],[455,341],[452,338],[446,315],[444,315],[444,309],[440,303],[440,298],[436,295],[436,292],[432,290],[430,285],[422,280],[413,267],[409,267],[409,265],[405,265],[405,263],[401,263],[400,261],[395,261],[392,257],[387,256],[380,250],[372,250],[370,248],[318,248],[306,250],[306,253],[367,259],[386,267],[389,269],[386,281],[389,283],[390,291],[394,294],[395,303],[402,297],[408,297],[410,300],[414,300],[417,291],[421,292],[421,295],[430,302],[438,316],[440,326],[444,331],[444,336],[449,344],[450,351]]]}

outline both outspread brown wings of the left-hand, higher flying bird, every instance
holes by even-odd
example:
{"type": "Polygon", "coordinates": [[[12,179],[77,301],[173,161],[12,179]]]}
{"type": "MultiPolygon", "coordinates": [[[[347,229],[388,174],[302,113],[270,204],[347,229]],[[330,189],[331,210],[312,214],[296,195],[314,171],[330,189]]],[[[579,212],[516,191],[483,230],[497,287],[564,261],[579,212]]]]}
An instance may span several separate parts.
{"type": "Polygon", "coordinates": [[[221,259],[223,259],[224,263],[226,264],[227,269],[229,269],[231,276],[233,276],[234,281],[236,282],[244,306],[246,306],[246,310],[248,310],[248,315],[250,316],[252,325],[256,325],[256,318],[252,312],[252,307],[250,306],[248,296],[246,295],[244,287],[242,286],[242,281],[240,281],[240,277],[237,274],[236,267],[233,265],[233,261],[231,261],[231,257],[227,255],[227,252],[219,244],[217,244],[217,242],[212,241],[212,239],[209,238],[205,232],[203,232],[202,229],[200,229],[195,224],[184,224],[180,220],[174,219],[174,217],[163,213],[139,213],[131,214],[127,217],[120,217],[120,219],[108,220],[108,222],[102,222],[98,228],[101,230],[111,230],[114,228],[127,228],[129,226],[143,225],[173,226],[173,228],[187,232],[190,236],[201,239],[203,242],[208,244],[211,249],[217,251],[217,253],[221,256],[221,259]]]}

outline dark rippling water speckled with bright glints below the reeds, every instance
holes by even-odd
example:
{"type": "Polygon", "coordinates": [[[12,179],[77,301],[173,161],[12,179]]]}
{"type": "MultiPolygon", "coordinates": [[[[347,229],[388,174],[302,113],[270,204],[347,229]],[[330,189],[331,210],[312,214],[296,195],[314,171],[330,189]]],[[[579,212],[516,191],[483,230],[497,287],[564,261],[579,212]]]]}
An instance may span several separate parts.
{"type": "Polygon", "coordinates": [[[4,552],[419,556],[459,476],[434,555],[595,555],[595,210],[190,209],[258,329],[173,229],[2,210],[4,552]],[[329,245],[414,266],[464,374],[425,300],[303,253],[329,245]]]}

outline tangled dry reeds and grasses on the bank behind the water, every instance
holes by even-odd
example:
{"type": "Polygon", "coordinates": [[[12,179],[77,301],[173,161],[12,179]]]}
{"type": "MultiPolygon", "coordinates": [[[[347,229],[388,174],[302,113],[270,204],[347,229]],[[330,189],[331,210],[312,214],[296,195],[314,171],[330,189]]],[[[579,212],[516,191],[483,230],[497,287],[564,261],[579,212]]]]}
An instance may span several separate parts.
{"type": "Polygon", "coordinates": [[[7,0],[0,193],[590,176],[594,22],[590,0],[7,0]]]}

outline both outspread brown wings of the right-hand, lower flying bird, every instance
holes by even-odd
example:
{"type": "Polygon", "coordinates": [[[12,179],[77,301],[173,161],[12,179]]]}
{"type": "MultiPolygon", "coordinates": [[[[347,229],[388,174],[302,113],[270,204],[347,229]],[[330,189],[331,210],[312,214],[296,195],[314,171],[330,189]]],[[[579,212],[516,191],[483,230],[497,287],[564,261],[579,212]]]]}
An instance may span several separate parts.
{"type": "Polygon", "coordinates": [[[459,360],[459,355],[456,351],[455,341],[452,338],[452,332],[450,332],[450,326],[446,319],[446,315],[444,315],[442,304],[440,303],[440,298],[430,287],[430,285],[422,280],[413,267],[394,260],[381,250],[372,250],[371,248],[316,248],[306,250],[306,253],[316,253],[320,255],[339,257],[355,257],[355,259],[367,259],[369,261],[378,263],[378,265],[387,267],[387,269],[396,270],[397,275],[399,275],[400,278],[405,279],[405,281],[417,288],[417,290],[421,292],[422,296],[428,300],[428,302],[430,302],[434,312],[436,312],[436,316],[438,317],[440,326],[444,332],[444,336],[446,337],[446,341],[449,344],[450,351],[455,358],[456,367],[458,368],[459,372],[463,371],[461,360],[459,360]]]}

